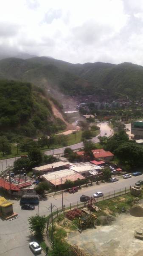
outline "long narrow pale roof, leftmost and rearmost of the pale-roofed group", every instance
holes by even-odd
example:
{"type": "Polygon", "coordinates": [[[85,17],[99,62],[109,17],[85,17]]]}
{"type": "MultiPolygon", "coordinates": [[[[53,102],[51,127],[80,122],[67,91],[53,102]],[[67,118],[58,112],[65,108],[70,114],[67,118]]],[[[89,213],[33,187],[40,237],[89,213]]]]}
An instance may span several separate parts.
{"type": "Polygon", "coordinates": [[[66,163],[59,161],[59,162],[55,162],[55,163],[46,164],[44,166],[34,167],[33,173],[43,175],[43,174],[47,174],[48,172],[55,172],[58,170],[67,169],[68,166],[69,166],[68,161],[66,163]]]}

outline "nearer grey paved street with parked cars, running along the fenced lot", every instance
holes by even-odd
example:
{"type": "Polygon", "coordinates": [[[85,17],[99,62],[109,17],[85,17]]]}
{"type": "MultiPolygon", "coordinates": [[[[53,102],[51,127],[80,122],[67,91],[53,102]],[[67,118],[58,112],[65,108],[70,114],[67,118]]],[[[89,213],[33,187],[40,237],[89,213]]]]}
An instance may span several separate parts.
{"type": "MultiPolygon", "coordinates": [[[[134,185],[136,181],[142,180],[143,175],[132,177],[129,179],[119,178],[115,183],[100,183],[87,188],[82,188],[76,194],[63,193],[65,206],[76,204],[82,194],[92,196],[97,191],[102,191],[104,194],[114,190],[124,189],[125,186],[134,185]]],[[[21,210],[19,201],[13,201],[14,212],[18,213],[18,218],[12,221],[2,221],[0,219],[0,255],[2,256],[32,256],[33,253],[28,247],[28,242],[31,241],[30,232],[28,230],[28,217],[38,214],[38,207],[34,211],[21,210]]],[[[47,207],[50,203],[55,205],[55,210],[62,207],[62,195],[54,195],[47,198],[47,201],[40,201],[39,214],[48,215],[50,212],[47,207]]],[[[45,255],[43,252],[42,256],[45,255]]]]}

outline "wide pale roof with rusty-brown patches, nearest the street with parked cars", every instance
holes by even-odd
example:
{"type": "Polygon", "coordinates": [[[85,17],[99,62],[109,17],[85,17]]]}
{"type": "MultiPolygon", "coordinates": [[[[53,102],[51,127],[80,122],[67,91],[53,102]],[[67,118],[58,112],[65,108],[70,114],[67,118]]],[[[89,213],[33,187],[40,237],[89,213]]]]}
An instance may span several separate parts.
{"type": "Polygon", "coordinates": [[[76,181],[78,179],[85,179],[84,176],[70,169],[64,169],[57,172],[50,172],[42,176],[45,180],[48,181],[48,183],[50,183],[53,186],[61,186],[62,184],[65,183],[66,180],[76,181]]]}

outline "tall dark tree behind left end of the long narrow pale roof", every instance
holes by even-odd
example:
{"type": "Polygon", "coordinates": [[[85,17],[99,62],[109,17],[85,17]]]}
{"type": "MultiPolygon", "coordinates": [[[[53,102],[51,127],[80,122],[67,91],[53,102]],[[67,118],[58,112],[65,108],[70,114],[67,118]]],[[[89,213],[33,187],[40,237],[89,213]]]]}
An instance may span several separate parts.
{"type": "Polygon", "coordinates": [[[42,153],[38,148],[31,148],[28,152],[28,158],[31,162],[31,166],[36,166],[42,163],[42,153]]]}

